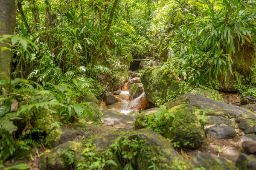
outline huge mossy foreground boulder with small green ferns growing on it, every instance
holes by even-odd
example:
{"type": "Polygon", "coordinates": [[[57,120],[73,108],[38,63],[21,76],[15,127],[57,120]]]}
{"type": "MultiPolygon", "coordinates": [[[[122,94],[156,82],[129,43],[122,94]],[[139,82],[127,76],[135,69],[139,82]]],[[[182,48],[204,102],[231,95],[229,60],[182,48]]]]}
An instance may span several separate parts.
{"type": "Polygon", "coordinates": [[[159,170],[191,170],[193,164],[172,147],[163,136],[152,130],[116,131],[104,138],[88,134],[82,142],[66,142],[44,153],[41,170],[73,169],[122,170],[124,162],[137,170],[156,167],[159,170]],[[65,153],[70,152],[69,156],[65,153]],[[104,161],[103,161],[104,160],[104,161]],[[89,168],[90,167],[90,168],[89,168]]]}

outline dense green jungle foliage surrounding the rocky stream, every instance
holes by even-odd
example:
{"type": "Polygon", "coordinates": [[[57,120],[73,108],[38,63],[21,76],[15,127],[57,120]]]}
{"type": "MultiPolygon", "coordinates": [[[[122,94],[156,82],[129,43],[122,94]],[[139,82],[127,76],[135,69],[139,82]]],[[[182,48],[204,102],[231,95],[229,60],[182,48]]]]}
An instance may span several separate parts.
{"type": "MultiPolygon", "coordinates": [[[[0,80],[0,160],[41,147],[49,130],[32,122],[42,110],[63,124],[93,119],[90,105],[78,103],[79,97],[101,96],[134,58],[147,58],[148,65],[162,59],[164,74],[182,87],[167,99],[157,98],[156,105],[198,86],[217,89],[218,76],[226,79],[228,73],[235,75],[240,93],[256,96],[256,69],[250,68],[250,77],[233,69],[239,50],[255,46],[255,0],[119,0],[113,8],[114,2],[18,0],[14,34],[0,35],[0,43],[9,45],[0,50],[12,51],[12,80],[0,80]],[[241,79],[251,81],[242,84],[241,79]]],[[[150,118],[152,128],[166,116],[174,117],[162,107],[150,118]]],[[[52,122],[52,129],[60,122],[52,122]]],[[[129,142],[138,150],[141,141],[129,142]]],[[[72,154],[63,152],[71,165],[72,154]]],[[[133,159],[125,157],[127,170],[133,159]]]]}

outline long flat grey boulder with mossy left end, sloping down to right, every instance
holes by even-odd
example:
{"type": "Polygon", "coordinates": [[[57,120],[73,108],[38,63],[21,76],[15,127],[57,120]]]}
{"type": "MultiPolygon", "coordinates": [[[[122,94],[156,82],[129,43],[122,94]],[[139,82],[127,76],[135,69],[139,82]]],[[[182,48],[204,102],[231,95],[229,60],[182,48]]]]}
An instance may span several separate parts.
{"type": "Polygon", "coordinates": [[[247,111],[244,108],[228,105],[224,102],[219,102],[214,99],[205,97],[201,94],[184,94],[177,99],[174,99],[170,102],[167,102],[165,106],[167,108],[172,108],[176,105],[180,105],[182,103],[190,103],[190,105],[195,106],[196,108],[203,109],[209,116],[221,116],[224,118],[241,118],[252,116],[253,114],[247,111]]]}

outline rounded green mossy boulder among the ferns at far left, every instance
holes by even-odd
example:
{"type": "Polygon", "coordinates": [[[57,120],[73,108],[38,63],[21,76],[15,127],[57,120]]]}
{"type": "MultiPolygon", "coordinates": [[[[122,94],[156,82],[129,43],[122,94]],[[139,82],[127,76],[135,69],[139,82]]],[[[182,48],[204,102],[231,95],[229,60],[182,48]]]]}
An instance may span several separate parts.
{"type": "Polygon", "coordinates": [[[40,112],[34,113],[32,126],[48,133],[54,128],[56,122],[60,122],[58,113],[49,108],[42,108],[40,112]]]}

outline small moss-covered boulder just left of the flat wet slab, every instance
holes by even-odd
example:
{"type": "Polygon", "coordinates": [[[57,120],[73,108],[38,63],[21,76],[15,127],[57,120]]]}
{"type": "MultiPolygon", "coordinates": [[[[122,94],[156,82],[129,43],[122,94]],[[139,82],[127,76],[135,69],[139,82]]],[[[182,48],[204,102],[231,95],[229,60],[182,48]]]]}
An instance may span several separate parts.
{"type": "Polygon", "coordinates": [[[93,125],[102,125],[101,116],[103,115],[103,113],[99,110],[99,106],[96,103],[92,102],[90,103],[90,107],[86,106],[86,108],[89,109],[93,114],[93,120],[88,114],[84,116],[84,120],[86,122],[93,121],[93,125]]]}

